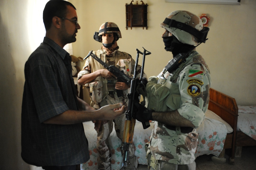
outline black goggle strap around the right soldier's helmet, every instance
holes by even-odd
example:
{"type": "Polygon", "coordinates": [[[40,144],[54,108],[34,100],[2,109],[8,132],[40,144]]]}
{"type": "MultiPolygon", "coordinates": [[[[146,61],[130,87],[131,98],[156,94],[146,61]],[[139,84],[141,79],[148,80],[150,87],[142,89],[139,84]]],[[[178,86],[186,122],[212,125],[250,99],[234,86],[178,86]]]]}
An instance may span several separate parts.
{"type": "Polygon", "coordinates": [[[169,19],[169,18],[165,18],[163,23],[167,24],[169,27],[178,28],[180,30],[190,33],[191,35],[197,38],[198,42],[205,43],[208,31],[209,31],[208,27],[204,27],[202,30],[198,31],[196,28],[193,28],[185,23],[176,21],[174,19],[169,19]]]}

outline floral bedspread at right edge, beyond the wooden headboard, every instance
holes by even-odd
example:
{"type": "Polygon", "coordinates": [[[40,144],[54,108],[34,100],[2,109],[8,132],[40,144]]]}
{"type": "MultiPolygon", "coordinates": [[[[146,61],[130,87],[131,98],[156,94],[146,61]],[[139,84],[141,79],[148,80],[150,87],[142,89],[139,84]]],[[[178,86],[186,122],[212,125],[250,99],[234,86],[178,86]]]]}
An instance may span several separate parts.
{"type": "Polygon", "coordinates": [[[256,140],[256,106],[238,106],[237,130],[256,140]]]}

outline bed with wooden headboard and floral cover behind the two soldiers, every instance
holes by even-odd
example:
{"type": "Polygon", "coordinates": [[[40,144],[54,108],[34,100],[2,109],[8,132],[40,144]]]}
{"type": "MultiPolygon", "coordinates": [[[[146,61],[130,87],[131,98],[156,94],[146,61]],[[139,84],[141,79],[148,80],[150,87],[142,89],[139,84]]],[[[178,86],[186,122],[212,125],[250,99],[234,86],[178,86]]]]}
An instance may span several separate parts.
{"type": "MultiPolygon", "coordinates": [[[[236,140],[238,109],[234,98],[227,96],[217,90],[210,89],[210,101],[206,118],[197,128],[199,140],[195,156],[213,154],[224,158],[225,149],[231,149],[230,163],[234,162],[234,149],[236,140]],[[221,119],[222,118],[222,119],[221,119]],[[224,154],[223,154],[224,153],[224,154]]],[[[81,164],[81,169],[98,169],[96,150],[97,133],[92,122],[84,122],[85,134],[89,143],[90,160],[81,164]]],[[[138,164],[147,164],[145,158],[145,144],[149,141],[153,122],[147,129],[142,128],[138,121],[135,123],[133,142],[136,147],[135,156],[138,164]]],[[[115,131],[110,134],[109,146],[111,150],[111,169],[122,168],[123,157],[120,146],[122,141],[118,139],[115,131]]]]}

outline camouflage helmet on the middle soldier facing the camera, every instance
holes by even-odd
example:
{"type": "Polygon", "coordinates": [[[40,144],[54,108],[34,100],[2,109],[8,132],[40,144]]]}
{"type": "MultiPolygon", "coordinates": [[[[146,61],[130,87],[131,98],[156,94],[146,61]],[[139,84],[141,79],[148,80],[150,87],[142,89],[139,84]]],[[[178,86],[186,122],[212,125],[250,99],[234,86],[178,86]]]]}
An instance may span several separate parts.
{"type": "Polygon", "coordinates": [[[118,26],[114,22],[105,22],[100,26],[99,36],[104,33],[116,33],[119,38],[122,38],[121,32],[118,26]]]}

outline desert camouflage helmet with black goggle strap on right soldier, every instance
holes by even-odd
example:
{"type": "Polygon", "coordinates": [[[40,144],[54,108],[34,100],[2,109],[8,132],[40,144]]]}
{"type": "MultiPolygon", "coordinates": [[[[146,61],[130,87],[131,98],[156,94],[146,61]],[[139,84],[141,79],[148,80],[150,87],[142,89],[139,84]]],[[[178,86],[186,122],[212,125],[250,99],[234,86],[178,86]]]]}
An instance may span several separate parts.
{"type": "Polygon", "coordinates": [[[198,16],[184,10],[170,13],[160,26],[172,33],[180,42],[189,45],[205,42],[209,31],[198,16]]]}

